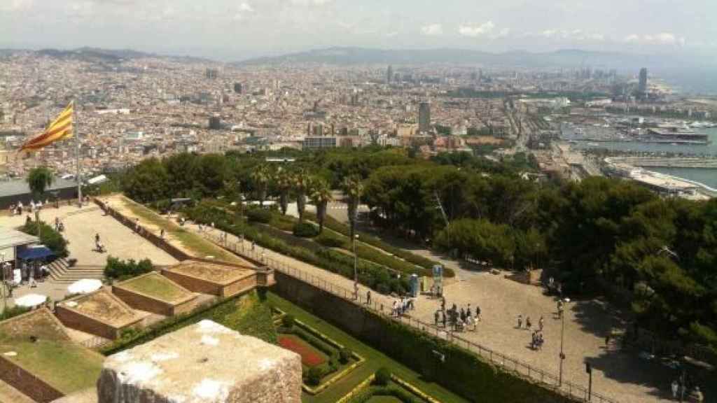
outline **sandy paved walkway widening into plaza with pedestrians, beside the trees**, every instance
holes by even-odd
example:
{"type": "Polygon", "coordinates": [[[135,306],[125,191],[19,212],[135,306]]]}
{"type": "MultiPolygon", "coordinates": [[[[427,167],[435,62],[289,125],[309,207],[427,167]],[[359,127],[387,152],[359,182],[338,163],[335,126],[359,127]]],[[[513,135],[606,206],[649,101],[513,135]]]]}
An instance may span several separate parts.
{"type": "MultiPolygon", "coordinates": [[[[199,233],[199,227],[188,224],[188,229],[199,233]]],[[[208,230],[204,229],[206,233],[208,230]]],[[[209,234],[218,236],[219,230],[209,230],[209,234]]],[[[229,243],[239,242],[237,237],[227,234],[229,243]]],[[[244,249],[251,250],[252,244],[244,241],[244,249]]],[[[326,280],[348,290],[353,289],[353,281],[341,275],[328,272],[291,257],[280,255],[262,247],[255,246],[255,254],[282,262],[304,272],[310,272],[316,278],[326,280]]],[[[469,270],[428,250],[412,250],[433,260],[442,262],[456,272],[453,279],[445,282],[447,307],[455,303],[465,307],[468,303],[475,310],[480,305],[483,320],[478,330],[457,333],[469,341],[498,351],[513,359],[557,376],[559,373],[559,351],[561,321],[556,313],[556,300],[543,294],[543,288],[525,285],[505,278],[505,273],[493,275],[489,272],[469,270]],[[545,344],[542,351],[533,351],[530,347],[531,331],[518,329],[516,317],[530,316],[533,328],[543,316],[545,344]]],[[[361,295],[369,290],[360,286],[361,295]]],[[[383,303],[390,310],[394,298],[372,292],[372,299],[383,303]]],[[[421,296],[417,298],[416,308],[409,315],[427,323],[433,323],[435,310],[440,308],[440,300],[421,296]]],[[[660,364],[639,359],[634,353],[620,351],[614,341],[605,345],[605,336],[611,331],[620,331],[621,323],[614,316],[609,305],[600,300],[584,300],[569,303],[566,306],[564,331],[563,379],[587,389],[588,375],[585,362],[593,366],[593,390],[617,402],[668,402],[668,384],[676,375],[673,370],[660,364]]]]}

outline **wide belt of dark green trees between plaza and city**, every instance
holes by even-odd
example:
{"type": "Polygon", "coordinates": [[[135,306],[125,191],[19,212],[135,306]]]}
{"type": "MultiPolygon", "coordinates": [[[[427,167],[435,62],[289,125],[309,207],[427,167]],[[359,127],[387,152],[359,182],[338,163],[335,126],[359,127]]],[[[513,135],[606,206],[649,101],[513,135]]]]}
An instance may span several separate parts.
{"type": "Polygon", "coordinates": [[[643,326],[663,336],[717,346],[717,201],[663,199],[627,181],[528,181],[535,161],[490,161],[442,154],[432,161],[403,150],[368,148],[300,153],[270,165],[266,154],[179,154],[150,159],[125,174],[138,201],[241,194],[318,207],[318,221],[342,189],[351,220],[368,204],[374,224],[495,265],[540,267],[568,293],[631,295],[643,326]]]}

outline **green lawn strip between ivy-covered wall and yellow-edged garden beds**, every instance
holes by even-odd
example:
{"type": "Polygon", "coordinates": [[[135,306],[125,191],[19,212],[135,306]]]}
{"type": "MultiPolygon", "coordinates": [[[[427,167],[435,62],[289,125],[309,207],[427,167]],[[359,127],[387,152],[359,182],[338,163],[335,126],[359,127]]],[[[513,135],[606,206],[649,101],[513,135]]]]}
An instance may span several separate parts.
{"type": "Polygon", "coordinates": [[[361,343],[361,341],[357,340],[356,338],[353,338],[348,333],[345,333],[340,329],[332,326],[330,323],[327,323],[326,321],[323,321],[320,318],[311,315],[310,313],[299,308],[298,306],[293,305],[293,303],[290,303],[289,301],[280,298],[278,295],[275,295],[273,293],[267,293],[267,300],[269,300],[270,304],[272,304],[276,308],[279,308],[280,310],[283,310],[284,312],[293,315],[298,320],[302,321],[303,323],[306,323],[308,326],[315,328],[321,333],[326,334],[326,336],[333,338],[333,340],[343,344],[343,346],[348,347],[348,349],[356,351],[357,354],[363,356],[364,359],[366,359],[366,362],[364,362],[363,365],[359,366],[358,368],[351,371],[351,373],[339,379],[336,384],[331,385],[331,387],[321,392],[320,394],[316,396],[303,394],[302,402],[338,402],[341,397],[348,394],[348,392],[351,392],[354,387],[358,386],[362,381],[366,380],[369,376],[371,376],[371,374],[374,374],[374,372],[376,372],[382,366],[386,366],[389,367],[391,371],[400,378],[413,384],[414,386],[421,389],[424,393],[435,397],[435,399],[438,399],[441,402],[467,403],[466,399],[463,399],[462,397],[453,394],[452,392],[448,391],[447,389],[441,387],[438,384],[423,381],[419,374],[407,368],[406,366],[390,359],[388,356],[384,355],[380,351],[371,349],[371,347],[366,346],[366,344],[364,343],[361,343]]]}

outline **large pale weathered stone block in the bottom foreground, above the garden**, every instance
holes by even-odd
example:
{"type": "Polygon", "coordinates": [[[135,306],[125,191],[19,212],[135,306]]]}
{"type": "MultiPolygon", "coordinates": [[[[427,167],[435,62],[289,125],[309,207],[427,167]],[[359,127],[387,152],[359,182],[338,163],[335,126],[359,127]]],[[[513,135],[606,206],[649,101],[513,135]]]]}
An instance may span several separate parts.
{"type": "Polygon", "coordinates": [[[99,403],[300,403],[301,359],[201,321],[108,357],[99,403]]]}

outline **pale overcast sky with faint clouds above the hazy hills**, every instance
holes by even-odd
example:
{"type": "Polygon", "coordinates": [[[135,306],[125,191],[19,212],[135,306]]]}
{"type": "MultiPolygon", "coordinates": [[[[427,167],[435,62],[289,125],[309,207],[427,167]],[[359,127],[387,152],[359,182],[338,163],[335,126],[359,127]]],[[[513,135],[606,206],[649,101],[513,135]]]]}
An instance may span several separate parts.
{"type": "Polygon", "coordinates": [[[717,57],[717,0],[0,0],[0,47],[240,60],[331,46],[717,57]]]}

